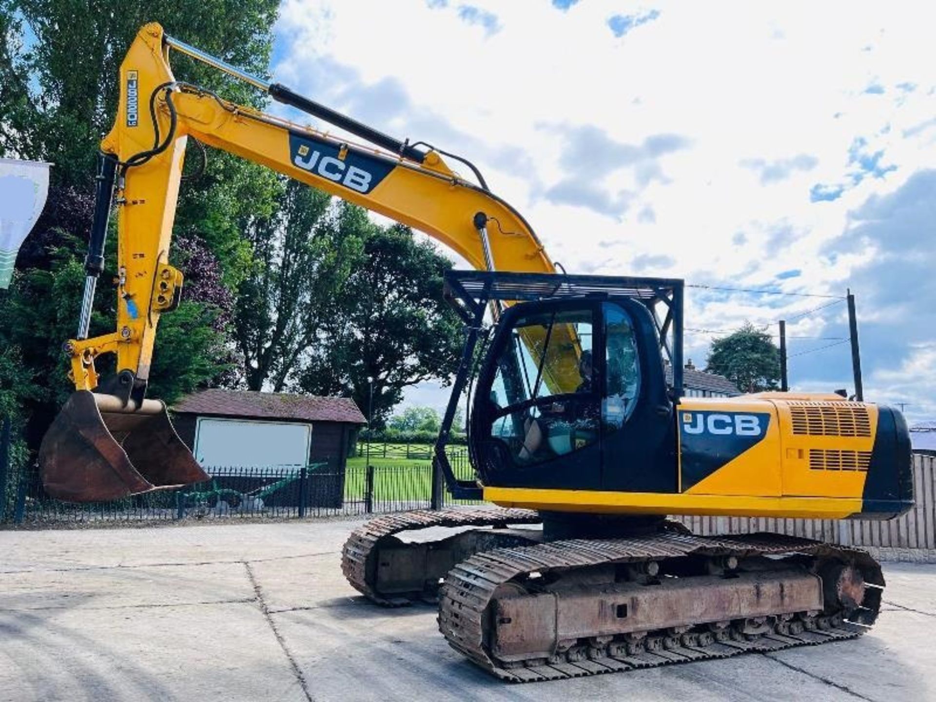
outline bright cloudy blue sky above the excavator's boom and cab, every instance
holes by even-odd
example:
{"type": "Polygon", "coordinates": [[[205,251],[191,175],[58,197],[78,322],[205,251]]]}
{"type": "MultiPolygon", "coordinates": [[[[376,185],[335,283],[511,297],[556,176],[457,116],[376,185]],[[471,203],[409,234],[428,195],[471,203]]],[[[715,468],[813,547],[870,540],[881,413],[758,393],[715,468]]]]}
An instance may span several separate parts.
{"type": "MultiPolygon", "coordinates": [[[[927,13],[712,7],[285,0],[273,75],[471,158],[568,271],[852,288],[866,396],[936,418],[927,13]]],[[[687,327],[789,319],[794,387],[851,388],[848,345],[831,345],[847,336],[845,306],[830,301],[694,287],[687,327]]],[[[697,365],[714,336],[687,335],[697,365]]],[[[444,402],[431,386],[407,397],[444,402]]]]}

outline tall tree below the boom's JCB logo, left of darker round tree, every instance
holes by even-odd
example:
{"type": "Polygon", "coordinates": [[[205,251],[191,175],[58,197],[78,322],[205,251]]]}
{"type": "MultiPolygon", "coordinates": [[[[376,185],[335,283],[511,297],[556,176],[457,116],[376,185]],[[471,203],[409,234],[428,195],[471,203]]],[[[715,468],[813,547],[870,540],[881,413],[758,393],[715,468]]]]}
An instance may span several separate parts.
{"type": "Polygon", "coordinates": [[[361,232],[343,229],[342,210],[328,194],[291,181],[280,209],[248,228],[254,265],[241,283],[234,324],[248,388],[285,387],[323,314],[363,263],[361,232]]]}

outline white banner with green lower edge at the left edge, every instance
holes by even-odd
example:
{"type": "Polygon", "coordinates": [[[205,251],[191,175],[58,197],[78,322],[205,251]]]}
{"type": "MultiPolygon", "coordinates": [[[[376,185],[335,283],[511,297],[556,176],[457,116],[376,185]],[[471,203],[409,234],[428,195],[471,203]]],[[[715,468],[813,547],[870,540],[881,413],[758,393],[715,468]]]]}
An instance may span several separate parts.
{"type": "Polygon", "coordinates": [[[20,246],[46,205],[49,166],[0,158],[0,289],[9,287],[20,246]]]}

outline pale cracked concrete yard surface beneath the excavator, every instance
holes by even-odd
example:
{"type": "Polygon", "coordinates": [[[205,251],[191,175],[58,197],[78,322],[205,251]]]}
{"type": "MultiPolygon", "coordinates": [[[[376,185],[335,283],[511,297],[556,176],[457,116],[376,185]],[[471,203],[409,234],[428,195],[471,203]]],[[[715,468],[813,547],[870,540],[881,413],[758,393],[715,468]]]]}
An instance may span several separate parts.
{"type": "Polygon", "coordinates": [[[344,581],[359,523],[0,532],[0,700],[936,699],[936,565],[857,640],[511,685],[344,581]]]}

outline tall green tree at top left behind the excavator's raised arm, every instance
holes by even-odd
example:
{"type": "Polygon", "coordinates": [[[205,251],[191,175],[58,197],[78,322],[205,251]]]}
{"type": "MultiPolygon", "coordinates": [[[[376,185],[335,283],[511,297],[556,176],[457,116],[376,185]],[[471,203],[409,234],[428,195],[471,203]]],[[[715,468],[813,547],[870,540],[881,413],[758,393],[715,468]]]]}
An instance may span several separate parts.
{"type": "MultiPolygon", "coordinates": [[[[53,190],[90,194],[97,145],[114,120],[118,69],[139,28],[159,18],[168,33],[262,76],[278,5],[127,0],[112,11],[99,0],[0,0],[0,31],[7,39],[0,51],[0,154],[52,161],[53,190]]],[[[253,107],[265,104],[256,89],[211,66],[178,52],[171,61],[177,78],[253,107]]],[[[175,230],[207,241],[234,287],[250,263],[241,228],[252,216],[269,216],[281,194],[269,169],[212,152],[203,175],[182,189],[175,230]]],[[[42,236],[40,230],[34,238],[42,236]]]]}

